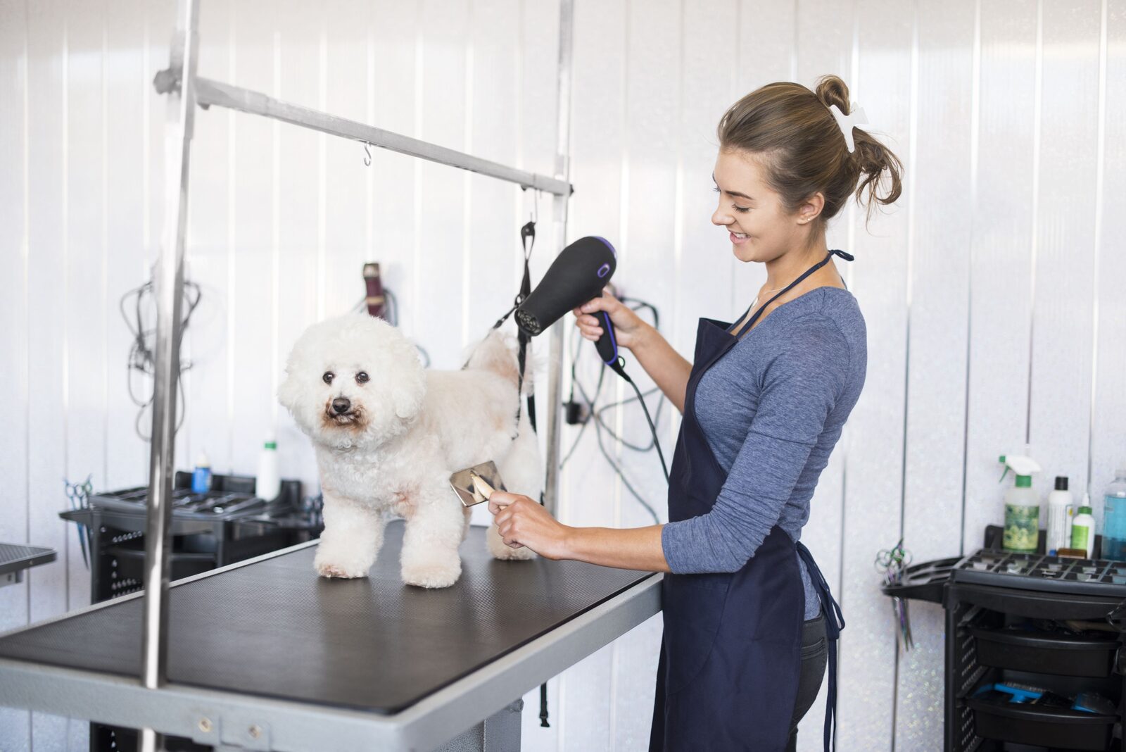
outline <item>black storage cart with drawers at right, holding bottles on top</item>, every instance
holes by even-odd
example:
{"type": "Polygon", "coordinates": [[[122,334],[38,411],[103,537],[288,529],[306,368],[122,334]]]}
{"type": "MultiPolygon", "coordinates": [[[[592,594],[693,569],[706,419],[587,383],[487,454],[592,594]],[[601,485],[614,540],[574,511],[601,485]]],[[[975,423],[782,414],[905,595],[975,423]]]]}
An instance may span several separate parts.
{"type": "MultiPolygon", "coordinates": [[[[1126,599],[1126,562],[1000,550],[1000,528],[963,558],[909,567],[887,594],[946,610],[945,752],[1120,751],[1124,634],[1108,620],[1126,599]],[[993,684],[1048,690],[1016,702],[993,684]],[[1112,704],[1073,709],[1081,692],[1112,704]]],[[[1098,549],[1096,549],[1098,550],[1098,549]]]]}

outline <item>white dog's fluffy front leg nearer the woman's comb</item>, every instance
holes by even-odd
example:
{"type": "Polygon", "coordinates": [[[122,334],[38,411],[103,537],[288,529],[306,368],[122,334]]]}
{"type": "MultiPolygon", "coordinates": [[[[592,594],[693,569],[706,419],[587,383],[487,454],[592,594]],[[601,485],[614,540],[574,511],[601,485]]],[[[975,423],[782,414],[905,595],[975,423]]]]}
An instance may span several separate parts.
{"type": "Polygon", "coordinates": [[[420,588],[448,588],[462,576],[457,547],[465,530],[462,505],[449,492],[448,475],[423,482],[403,532],[403,582],[420,588]]]}

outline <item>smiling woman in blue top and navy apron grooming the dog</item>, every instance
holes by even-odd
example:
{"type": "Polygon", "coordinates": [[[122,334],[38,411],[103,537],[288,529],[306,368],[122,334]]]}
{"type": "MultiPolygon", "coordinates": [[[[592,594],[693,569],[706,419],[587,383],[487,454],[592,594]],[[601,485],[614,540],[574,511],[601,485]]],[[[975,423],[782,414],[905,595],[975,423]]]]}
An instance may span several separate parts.
{"type": "Polygon", "coordinates": [[[548,558],[665,572],[664,639],[650,750],[793,750],[830,663],[831,742],[840,611],[798,543],[817,477],[864,386],[864,316],[825,225],[855,194],[900,196],[901,164],[854,127],[848,88],[771,83],[720,120],[712,222],[767,281],[734,325],[700,320],[692,362],[610,296],[577,308],[587,339],[609,314],[683,420],[669,523],[619,530],[561,525],[527,496],[490,510],[510,546],[548,558]],[[835,111],[834,111],[835,110],[835,111]]]}

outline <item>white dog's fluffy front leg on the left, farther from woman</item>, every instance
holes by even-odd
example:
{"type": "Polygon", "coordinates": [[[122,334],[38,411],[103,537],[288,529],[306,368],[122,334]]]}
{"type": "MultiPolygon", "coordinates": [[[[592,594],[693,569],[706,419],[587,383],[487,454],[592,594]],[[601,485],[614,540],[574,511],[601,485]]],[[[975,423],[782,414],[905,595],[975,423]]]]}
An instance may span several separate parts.
{"type": "Polygon", "coordinates": [[[366,578],[383,545],[383,514],[324,494],[324,532],[313,566],[323,578],[366,578]]]}

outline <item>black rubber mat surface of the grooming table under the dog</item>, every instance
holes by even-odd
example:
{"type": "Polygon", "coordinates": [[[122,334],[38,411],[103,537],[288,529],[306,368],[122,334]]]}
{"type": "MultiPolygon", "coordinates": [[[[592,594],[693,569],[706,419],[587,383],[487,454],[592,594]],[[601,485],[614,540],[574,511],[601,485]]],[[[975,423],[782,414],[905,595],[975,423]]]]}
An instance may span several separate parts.
{"type": "MultiPolygon", "coordinates": [[[[425,590],[399,578],[403,525],[370,576],[329,580],[311,546],[169,591],[170,682],[397,713],[651,576],[581,562],[499,562],[484,528],[462,578],[425,590]]],[[[17,660],[140,677],[135,599],[0,639],[17,660]]]]}

